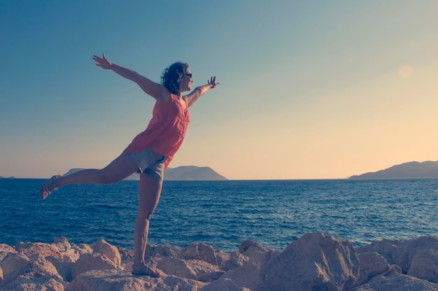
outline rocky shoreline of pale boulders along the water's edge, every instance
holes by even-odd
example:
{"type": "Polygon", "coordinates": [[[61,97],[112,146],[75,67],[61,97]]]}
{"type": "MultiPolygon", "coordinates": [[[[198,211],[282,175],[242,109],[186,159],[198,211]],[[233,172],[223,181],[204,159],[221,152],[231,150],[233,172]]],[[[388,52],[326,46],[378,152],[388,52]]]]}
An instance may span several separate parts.
{"type": "Polygon", "coordinates": [[[148,246],[160,278],[133,276],[133,253],[103,239],[70,244],[0,244],[0,290],[41,291],[277,291],[437,290],[438,237],[350,241],[306,234],[283,251],[243,241],[223,253],[206,244],[148,246]]]}

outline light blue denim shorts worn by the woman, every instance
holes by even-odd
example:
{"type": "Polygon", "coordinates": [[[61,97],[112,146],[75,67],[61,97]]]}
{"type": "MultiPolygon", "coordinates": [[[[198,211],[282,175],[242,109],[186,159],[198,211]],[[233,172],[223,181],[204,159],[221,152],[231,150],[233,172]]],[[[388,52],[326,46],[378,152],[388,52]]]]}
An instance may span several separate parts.
{"type": "Polygon", "coordinates": [[[164,179],[164,162],[166,157],[148,148],[143,149],[139,154],[126,153],[134,164],[139,167],[137,173],[147,174],[149,177],[162,182],[164,179]]]}

